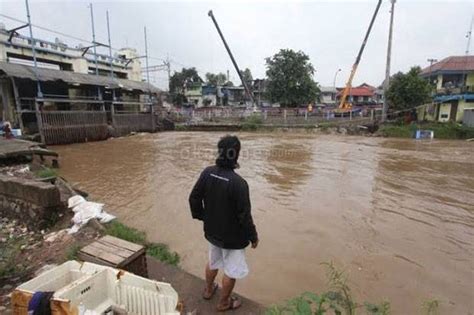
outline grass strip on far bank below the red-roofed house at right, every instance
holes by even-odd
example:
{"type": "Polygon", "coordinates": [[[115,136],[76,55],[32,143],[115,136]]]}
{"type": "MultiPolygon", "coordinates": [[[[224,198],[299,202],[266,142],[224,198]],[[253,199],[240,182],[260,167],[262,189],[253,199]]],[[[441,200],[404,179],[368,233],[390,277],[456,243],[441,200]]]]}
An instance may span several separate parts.
{"type": "Polygon", "coordinates": [[[379,133],[384,137],[412,138],[417,129],[433,130],[437,139],[471,139],[474,128],[458,123],[414,123],[385,124],[380,126],[379,133]]]}

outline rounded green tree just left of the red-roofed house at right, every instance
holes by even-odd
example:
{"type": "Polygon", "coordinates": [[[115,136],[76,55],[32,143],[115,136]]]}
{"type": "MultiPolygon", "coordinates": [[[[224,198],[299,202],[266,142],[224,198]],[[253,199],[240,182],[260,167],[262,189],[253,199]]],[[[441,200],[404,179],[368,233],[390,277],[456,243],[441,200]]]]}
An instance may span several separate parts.
{"type": "Polygon", "coordinates": [[[390,79],[385,97],[392,110],[404,110],[430,100],[430,84],[420,77],[421,68],[412,67],[406,74],[398,72],[390,79]]]}

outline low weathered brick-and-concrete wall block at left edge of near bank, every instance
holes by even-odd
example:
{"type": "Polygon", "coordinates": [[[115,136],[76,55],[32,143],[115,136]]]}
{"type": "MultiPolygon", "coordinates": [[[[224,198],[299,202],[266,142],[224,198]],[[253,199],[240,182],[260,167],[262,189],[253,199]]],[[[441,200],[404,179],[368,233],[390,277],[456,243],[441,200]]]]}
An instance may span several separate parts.
{"type": "Polygon", "coordinates": [[[0,175],[0,216],[24,222],[30,229],[41,230],[54,224],[64,209],[56,186],[0,175]]]}

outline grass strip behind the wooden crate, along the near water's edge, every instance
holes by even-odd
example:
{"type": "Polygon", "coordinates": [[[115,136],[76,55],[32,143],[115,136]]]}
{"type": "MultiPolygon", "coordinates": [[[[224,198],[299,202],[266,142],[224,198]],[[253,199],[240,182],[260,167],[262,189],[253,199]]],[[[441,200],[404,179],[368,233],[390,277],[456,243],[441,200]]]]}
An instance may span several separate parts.
{"type": "Polygon", "coordinates": [[[148,255],[168,265],[177,266],[179,264],[180,257],[178,253],[171,252],[167,245],[148,242],[146,233],[126,226],[117,220],[105,225],[105,233],[132,243],[145,246],[148,255]]]}

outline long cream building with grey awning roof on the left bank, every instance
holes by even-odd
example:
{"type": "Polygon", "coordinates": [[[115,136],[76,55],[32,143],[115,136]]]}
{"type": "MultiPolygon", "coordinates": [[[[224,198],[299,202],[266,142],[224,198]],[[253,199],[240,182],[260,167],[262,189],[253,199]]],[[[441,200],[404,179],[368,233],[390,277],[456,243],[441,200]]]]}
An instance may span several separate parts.
{"type": "Polygon", "coordinates": [[[57,38],[54,42],[35,38],[34,43],[37,67],[33,41],[0,24],[0,120],[11,121],[24,133],[38,131],[35,106],[41,112],[99,108],[141,112],[158,103],[160,91],[143,82],[134,49],[124,48],[110,57],[94,55],[92,47],[69,47],[57,38]]]}

